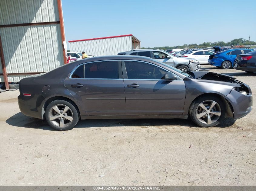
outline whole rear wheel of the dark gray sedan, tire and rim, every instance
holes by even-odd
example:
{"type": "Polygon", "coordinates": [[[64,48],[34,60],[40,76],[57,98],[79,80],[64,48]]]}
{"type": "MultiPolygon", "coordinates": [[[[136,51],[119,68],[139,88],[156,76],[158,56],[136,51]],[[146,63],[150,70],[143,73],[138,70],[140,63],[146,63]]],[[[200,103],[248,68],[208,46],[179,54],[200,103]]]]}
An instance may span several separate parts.
{"type": "Polygon", "coordinates": [[[68,101],[54,100],[46,108],[45,118],[49,126],[58,131],[73,129],[79,120],[77,108],[68,101]]]}

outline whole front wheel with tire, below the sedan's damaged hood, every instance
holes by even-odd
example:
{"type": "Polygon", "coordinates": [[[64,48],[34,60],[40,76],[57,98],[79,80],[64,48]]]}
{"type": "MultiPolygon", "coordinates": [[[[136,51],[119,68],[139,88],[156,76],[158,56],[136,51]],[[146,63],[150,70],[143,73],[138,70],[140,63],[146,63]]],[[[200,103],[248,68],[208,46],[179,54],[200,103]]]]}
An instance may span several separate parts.
{"type": "Polygon", "coordinates": [[[201,127],[214,127],[225,116],[225,104],[218,97],[204,96],[193,103],[189,109],[191,120],[201,127]]]}

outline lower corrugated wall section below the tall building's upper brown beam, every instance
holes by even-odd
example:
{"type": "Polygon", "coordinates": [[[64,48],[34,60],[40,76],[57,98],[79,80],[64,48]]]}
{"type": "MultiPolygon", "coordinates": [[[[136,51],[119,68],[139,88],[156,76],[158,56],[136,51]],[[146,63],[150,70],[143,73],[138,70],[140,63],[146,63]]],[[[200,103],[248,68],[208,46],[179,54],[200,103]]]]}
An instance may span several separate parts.
{"type": "Polygon", "coordinates": [[[0,33],[7,73],[48,72],[64,62],[59,24],[6,27],[0,33]]]}

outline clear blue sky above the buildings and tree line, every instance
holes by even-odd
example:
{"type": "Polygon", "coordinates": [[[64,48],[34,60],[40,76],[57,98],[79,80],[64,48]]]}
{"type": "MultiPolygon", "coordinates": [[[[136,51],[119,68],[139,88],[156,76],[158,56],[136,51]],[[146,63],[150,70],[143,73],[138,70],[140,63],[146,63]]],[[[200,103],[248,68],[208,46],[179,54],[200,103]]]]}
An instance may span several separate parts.
{"type": "Polygon", "coordinates": [[[141,47],[256,41],[256,1],[62,0],[66,40],[133,34],[141,47]]]}

